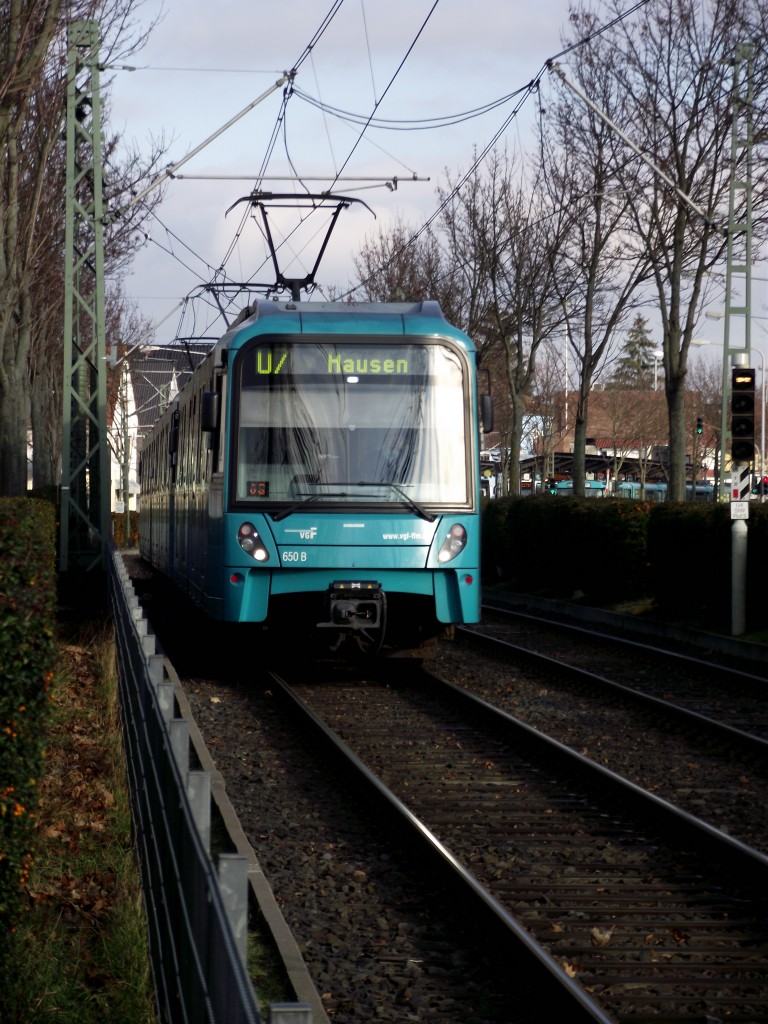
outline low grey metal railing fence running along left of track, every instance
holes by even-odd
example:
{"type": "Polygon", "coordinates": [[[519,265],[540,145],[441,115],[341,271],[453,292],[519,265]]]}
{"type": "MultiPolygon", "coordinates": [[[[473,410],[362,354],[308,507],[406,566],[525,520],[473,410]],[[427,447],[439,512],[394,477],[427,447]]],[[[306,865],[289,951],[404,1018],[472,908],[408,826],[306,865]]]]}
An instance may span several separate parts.
{"type": "MultiPolygon", "coordinates": [[[[245,858],[222,858],[217,877],[207,849],[210,783],[206,773],[188,769],[188,727],[175,716],[173,686],[164,680],[162,654],[122,557],[113,551],[109,561],[128,785],[160,1017],[169,1024],[262,1024],[244,964],[247,876],[245,863],[238,870],[237,862],[245,858]],[[242,889],[242,899],[225,903],[232,886],[242,889]],[[231,905],[241,907],[234,920],[227,915],[231,905]]],[[[304,1008],[294,1009],[291,1020],[310,1024],[304,1008]]]]}

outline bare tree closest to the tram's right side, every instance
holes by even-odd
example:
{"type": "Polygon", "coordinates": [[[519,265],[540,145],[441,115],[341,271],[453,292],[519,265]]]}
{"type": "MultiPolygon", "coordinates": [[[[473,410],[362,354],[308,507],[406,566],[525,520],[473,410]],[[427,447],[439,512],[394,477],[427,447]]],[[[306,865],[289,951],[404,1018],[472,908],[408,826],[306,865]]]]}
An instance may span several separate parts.
{"type": "Polygon", "coordinates": [[[520,489],[523,417],[540,345],[562,329],[555,283],[563,208],[521,162],[493,154],[439,189],[438,230],[381,232],[356,261],[369,298],[437,298],[474,340],[490,377],[511,494],[520,489]]]}

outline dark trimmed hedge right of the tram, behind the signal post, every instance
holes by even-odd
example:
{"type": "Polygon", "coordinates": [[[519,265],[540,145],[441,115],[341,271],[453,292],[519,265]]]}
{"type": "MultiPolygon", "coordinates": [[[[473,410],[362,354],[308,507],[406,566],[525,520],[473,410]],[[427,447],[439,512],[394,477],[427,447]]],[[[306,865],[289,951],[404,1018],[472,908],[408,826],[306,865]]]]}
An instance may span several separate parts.
{"type": "MultiPolygon", "coordinates": [[[[597,605],[644,598],[666,621],[730,629],[727,504],[500,499],[483,509],[482,564],[485,584],[597,605]]],[[[751,502],[748,632],[768,630],[766,566],[768,504],[751,502]]]]}

